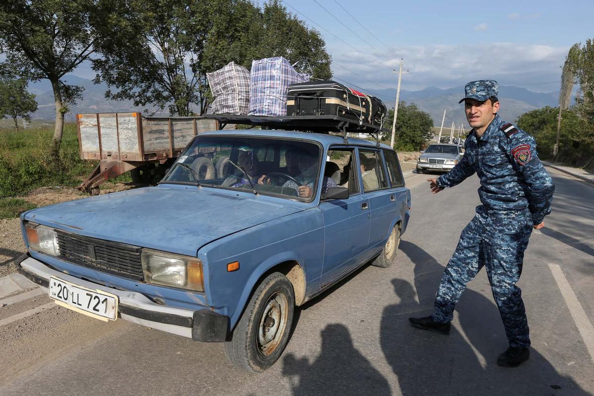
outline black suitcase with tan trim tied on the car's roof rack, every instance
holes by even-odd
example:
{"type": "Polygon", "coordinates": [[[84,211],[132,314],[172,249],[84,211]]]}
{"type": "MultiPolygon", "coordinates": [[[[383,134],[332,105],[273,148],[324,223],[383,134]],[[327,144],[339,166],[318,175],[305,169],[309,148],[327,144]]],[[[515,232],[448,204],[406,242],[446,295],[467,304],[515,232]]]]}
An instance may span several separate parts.
{"type": "Polygon", "coordinates": [[[368,95],[336,81],[292,84],[287,90],[287,116],[334,115],[370,123],[370,102],[368,95]]]}

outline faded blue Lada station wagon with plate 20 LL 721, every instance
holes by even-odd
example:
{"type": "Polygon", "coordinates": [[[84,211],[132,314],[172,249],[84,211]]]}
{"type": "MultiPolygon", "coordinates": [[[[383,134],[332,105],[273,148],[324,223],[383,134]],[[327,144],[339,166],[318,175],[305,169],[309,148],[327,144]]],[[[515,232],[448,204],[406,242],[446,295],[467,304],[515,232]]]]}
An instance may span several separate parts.
{"type": "Polygon", "coordinates": [[[285,349],[296,306],[369,261],[392,264],[409,216],[387,145],[213,131],[156,186],[23,213],[17,262],[62,306],[223,342],[259,372],[285,349]]]}

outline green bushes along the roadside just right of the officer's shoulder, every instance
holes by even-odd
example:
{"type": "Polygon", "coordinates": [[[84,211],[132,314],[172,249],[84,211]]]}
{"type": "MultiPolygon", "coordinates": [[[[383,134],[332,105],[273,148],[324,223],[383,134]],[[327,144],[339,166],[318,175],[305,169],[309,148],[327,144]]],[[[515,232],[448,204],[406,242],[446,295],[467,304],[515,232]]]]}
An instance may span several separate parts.
{"type": "MultiPolygon", "coordinates": [[[[535,137],[538,153],[541,158],[552,156],[557,139],[558,107],[543,107],[524,113],[518,118],[517,125],[535,137]]],[[[573,110],[561,113],[561,131],[559,145],[565,148],[579,148],[583,131],[586,128],[583,120],[573,110]]]]}

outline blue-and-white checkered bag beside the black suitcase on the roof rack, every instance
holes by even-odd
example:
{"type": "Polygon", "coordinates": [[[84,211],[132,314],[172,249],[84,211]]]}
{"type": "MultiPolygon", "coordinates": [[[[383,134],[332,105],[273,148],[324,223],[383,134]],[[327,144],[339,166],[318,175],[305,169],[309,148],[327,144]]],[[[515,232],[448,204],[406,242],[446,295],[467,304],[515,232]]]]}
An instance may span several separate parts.
{"type": "Polygon", "coordinates": [[[297,72],[282,56],[252,61],[249,77],[249,115],[253,116],[285,116],[289,85],[309,81],[309,75],[297,72]]]}

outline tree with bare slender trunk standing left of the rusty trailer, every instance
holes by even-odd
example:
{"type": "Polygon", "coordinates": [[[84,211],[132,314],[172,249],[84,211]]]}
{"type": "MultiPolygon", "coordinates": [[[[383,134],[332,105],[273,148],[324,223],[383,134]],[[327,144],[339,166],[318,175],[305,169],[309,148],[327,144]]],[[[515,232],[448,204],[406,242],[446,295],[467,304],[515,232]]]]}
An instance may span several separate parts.
{"type": "Polygon", "coordinates": [[[62,78],[90,58],[96,24],[106,9],[102,0],[3,0],[0,8],[0,52],[33,81],[48,79],[56,107],[51,154],[59,157],[68,103],[83,88],[62,78]]]}

